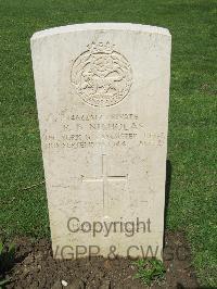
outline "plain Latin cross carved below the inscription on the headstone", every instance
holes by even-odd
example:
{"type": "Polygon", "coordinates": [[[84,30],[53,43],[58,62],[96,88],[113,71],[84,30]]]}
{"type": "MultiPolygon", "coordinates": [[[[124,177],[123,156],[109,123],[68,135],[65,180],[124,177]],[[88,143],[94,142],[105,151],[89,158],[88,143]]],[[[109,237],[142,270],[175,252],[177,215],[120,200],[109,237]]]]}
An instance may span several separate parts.
{"type": "MultiPolygon", "coordinates": [[[[85,177],[84,175],[81,175],[81,181],[89,181],[89,183],[102,183],[103,186],[103,211],[105,211],[105,203],[108,203],[108,191],[107,191],[107,187],[108,187],[108,181],[126,181],[128,178],[128,174],[127,175],[108,175],[107,174],[107,168],[106,168],[106,155],[102,154],[102,159],[101,159],[101,176],[100,177],[85,177]]],[[[107,206],[107,205],[106,205],[107,206]]]]}

